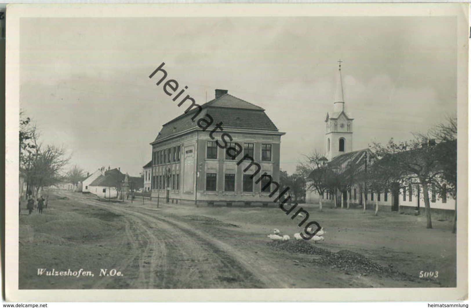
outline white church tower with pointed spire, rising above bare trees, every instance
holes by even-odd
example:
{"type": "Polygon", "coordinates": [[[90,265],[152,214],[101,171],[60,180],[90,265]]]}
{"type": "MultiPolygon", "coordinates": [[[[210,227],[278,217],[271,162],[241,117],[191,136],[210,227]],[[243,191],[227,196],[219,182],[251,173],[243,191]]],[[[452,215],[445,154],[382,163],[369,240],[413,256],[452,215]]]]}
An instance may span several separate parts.
{"type": "Polygon", "coordinates": [[[333,100],[333,112],[327,112],[325,118],[325,157],[332,158],[350,152],[353,147],[353,118],[345,112],[343,99],[343,85],[341,63],[339,62],[339,75],[337,90],[333,100]]]}

